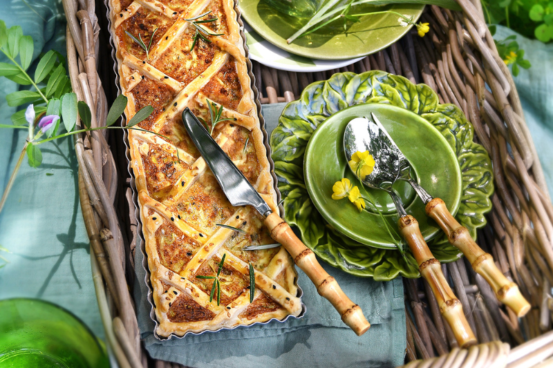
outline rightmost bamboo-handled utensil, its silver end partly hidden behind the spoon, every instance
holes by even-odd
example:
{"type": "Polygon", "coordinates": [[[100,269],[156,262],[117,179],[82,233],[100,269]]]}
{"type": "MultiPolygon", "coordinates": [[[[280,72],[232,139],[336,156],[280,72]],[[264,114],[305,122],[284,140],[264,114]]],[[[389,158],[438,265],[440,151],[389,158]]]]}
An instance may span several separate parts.
{"type": "Polygon", "coordinates": [[[471,238],[471,235],[465,226],[461,226],[455,217],[449,213],[444,201],[440,198],[433,198],[427,191],[422,188],[411,177],[411,163],[407,159],[400,148],[397,147],[393,139],[388,135],[384,126],[379,122],[375,114],[371,113],[376,125],[384,131],[384,134],[391,142],[391,147],[400,159],[400,176],[399,180],[409,182],[420,199],[426,204],[427,215],[438,223],[440,228],[446,233],[447,239],[451,244],[456,246],[471,262],[472,268],[476,273],[482,276],[494,290],[496,297],[500,302],[507,305],[516,313],[516,316],[522,317],[530,310],[530,304],[522,296],[518,286],[505,278],[505,275],[499,271],[494,263],[494,258],[491,254],[483,251],[476,242],[471,238]]]}

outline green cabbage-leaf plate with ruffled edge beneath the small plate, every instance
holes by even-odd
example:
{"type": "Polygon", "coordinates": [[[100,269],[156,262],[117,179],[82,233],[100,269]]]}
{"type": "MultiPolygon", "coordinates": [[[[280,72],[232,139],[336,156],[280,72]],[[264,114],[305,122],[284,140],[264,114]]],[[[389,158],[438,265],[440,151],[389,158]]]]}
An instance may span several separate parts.
{"type": "MultiPolygon", "coordinates": [[[[284,218],[301,233],[303,242],[334,267],[360,277],[391,280],[397,275],[417,278],[418,269],[407,252],[378,249],[356,242],[328,225],[310,200],[303,178],[303,156],[317,126],[339,110],[357,104],[390,104],[411,110],[437,128],[458,157],[462,193],[456,219],[476,239],[486,224],[494,192],[491,162],[485,149],[473,142],[474,128],[453,104],[439,104],[429,86],[412,84],[404,77],[379,70],[362,74],[337,73],[326,81],[310,84],[297,101],[288,104],[272,132],[270,144],[274,172],[284,197],[284,218]]],[[[328,193],[330,196],[332,193],[328,193]]],[[[452,262],[462,253],[440,233],[428,242],[440,262],[452,262]]]]}

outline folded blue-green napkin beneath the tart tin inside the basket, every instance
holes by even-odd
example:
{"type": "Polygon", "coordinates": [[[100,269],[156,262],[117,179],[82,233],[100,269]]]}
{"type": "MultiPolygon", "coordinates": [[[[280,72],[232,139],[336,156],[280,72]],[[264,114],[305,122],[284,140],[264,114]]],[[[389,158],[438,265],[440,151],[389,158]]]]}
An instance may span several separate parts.
{"type": "MultiPolygon", "coordinates": [[[[284,106],[263,106],[265,129],[269,134],[277,126],[284,106]]],[[[135,257],[135,302],[141,337],[153,358],[189,367],[228,368],[396,367],[403,364],[406,329],[401,278],[375,282],[356,278],[321,262],[371,322],[371,329],[360,337],[344,325],[330,302],[319,296],[315,285],[298,270],[298,283],[307,308],[303,318],[160,341],[153,336],[155,325],[150,318],[143,256],[138,251],[135,257]]]]}

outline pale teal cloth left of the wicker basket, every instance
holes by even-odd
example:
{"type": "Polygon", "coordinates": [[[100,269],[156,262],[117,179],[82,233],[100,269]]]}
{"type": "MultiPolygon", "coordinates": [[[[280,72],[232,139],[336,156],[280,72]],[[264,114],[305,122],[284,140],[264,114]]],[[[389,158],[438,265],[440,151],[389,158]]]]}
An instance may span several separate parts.
{"type": "MultiPolygon", "coordinates": [[[[55,48],[65,55],[61,2],[0,0],[0,19],[8,27],[22,26],[24,35],[32,36],[35,61],[30,70],[34,70],[43,48],[55,48]]],[[[0,61],[8,60],[2,54],[0,61]]],[[[10,117],[16,108],[6,104],[6,95],[17,88],[12,81],[0,78],[0,124],[12,124],[10,117]]],[[[0,196],[26,137],[26,130],[0,128],[0,196]]],[[[0,251],[10,261],[0,269],[0,298],[48,300],[73,312],[103,338],[91,278],[90,247],[77,193],[73,139],[40,148],[42,166],[30,168],[25,157],[0,213],[0,244],[12,252],[0,251]]]]}

